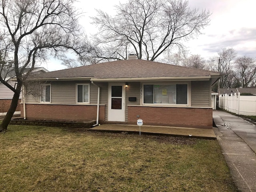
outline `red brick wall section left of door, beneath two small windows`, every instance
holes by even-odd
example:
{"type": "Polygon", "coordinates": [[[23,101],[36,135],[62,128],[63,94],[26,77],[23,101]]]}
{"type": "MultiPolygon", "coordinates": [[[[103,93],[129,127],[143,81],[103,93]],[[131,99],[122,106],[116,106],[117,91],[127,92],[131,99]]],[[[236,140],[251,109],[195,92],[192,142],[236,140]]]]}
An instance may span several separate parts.
{"type": "MultiPolygon", "coordinates": [[[[23,109],[23,104],[21,104],[23,109]]],[[[20,116],[24,117],[23,110],[20,116]]],[[[26,104],[27,120],[90,121],[97,118],[95,105],[26,104]]],[[[99,122],[104,122],[105,106],[100,106],[99,122]]]]}

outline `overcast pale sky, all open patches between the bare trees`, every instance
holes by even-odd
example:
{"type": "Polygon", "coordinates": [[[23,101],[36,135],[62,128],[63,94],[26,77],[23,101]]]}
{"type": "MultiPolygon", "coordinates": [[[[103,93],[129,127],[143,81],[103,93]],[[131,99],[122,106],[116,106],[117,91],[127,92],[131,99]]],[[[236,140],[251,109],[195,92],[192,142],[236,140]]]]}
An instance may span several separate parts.
{"type": "MultiPolygon", "coordinates": [[[[88,36],[97,32],[90,24],[90,16],[95,16],[95,9],[101,9],[108,14],[115,14],[114,5],[125,0],[93,0],[77,3],[84,12],[81,24],[88,36]]],[[[256,0],[188,0],[191,8],[210,10],[210,25],[202,32],[204,34],[186,43],[190,54],[199,54],[206,60],[216,56],[221,48],[234,48],[238,56],[247,55],[256,58],[256,0]]],[[[63,69],[58,61],[50,61],[48,70],[63,69]],[[56,63],[53,65],[52,63],[56,63]]]]}

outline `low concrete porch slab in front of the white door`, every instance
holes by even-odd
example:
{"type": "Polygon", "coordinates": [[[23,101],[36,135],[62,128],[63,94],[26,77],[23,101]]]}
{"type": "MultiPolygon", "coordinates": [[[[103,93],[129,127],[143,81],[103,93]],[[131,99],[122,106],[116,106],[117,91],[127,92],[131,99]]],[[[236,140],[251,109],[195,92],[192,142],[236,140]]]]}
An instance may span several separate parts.
{"type": "Polygon", "coordinates": [[[216,135],[212,129],[199,128],[183,128],[169,126],[141,126],[138,125],[123,125],[123,124],[102,124],[91,128],[90,130],[104,132],[129,132],[139,134],[162,134],[170,136],[186,136],[192,138],[216,139],[216,135]]]}

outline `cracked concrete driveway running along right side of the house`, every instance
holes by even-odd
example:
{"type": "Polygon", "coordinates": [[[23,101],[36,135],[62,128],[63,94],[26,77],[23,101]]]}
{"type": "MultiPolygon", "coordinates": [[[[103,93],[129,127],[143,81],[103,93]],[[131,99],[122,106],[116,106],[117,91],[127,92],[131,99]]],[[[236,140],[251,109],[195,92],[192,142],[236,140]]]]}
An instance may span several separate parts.
{"type": "Polygon", "coordinates": [[[214,110],[214,132],[230,173],[242,192],[256,192],[256,126],[227,112],[214,110]]]}

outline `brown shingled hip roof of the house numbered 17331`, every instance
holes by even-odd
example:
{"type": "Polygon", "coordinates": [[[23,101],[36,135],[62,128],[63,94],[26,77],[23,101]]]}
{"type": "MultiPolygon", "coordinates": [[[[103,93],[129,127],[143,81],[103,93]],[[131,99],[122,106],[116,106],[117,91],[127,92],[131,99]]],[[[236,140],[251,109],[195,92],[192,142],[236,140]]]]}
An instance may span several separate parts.
{"type": "Polygon", "coordinates": [[[198,77],[220,75],[201,69],[175,66],[148,60],[118,60],[77,68],[52,71],[40,75],[41,78],[157,78],[157,77],[198,77]]]}

